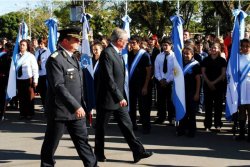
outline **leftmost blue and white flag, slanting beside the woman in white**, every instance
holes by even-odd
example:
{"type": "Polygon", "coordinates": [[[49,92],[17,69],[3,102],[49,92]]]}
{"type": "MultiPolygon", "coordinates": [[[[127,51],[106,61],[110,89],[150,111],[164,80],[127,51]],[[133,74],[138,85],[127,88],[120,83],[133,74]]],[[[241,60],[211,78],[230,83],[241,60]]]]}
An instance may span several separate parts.
{"type": "Polygon", "coordinates": [[[28,26],[24,21],[22,21],[22,23],[19,26],[16,43],[13,50],[8,85],[7,85],[7,92],[6,92],[6,100],[10,100],[12,97],[16,96],[16,65],[17,65],[19,42],[22,39],[27,39],[27,38],[28,38],[28,26]]]}

